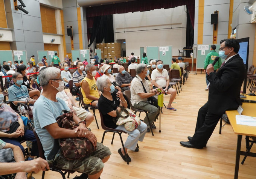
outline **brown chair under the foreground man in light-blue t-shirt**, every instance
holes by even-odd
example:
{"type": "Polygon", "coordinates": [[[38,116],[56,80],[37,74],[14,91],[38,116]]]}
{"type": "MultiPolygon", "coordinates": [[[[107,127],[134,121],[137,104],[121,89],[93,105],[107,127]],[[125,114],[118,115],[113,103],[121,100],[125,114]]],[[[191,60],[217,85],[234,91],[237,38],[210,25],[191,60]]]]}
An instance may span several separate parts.
{"type": "MultiPolygon", "coordinates": [[[[35,135],[35,138],[37,139],[39,156],[43,159],[46,159],[44,156],[44,149],[43,149],[42,143],[37,135],[37,132],[35,132],[35,128],[33,129],[33,133],[35,135]]],[[[67,177],[69,178],[70,173],[75,173],[75,171],[65,170],[62,168],[54,167],[53,165],[49,165],[49,166],[50,166],[50,170],[59,172],[62,176],[62,179],[66,179],[66,176],[65,176],[66,174],[67,174],[67,177]],[[63,173],[63,171],[64,171],[64,173],[63,173]]],[[[42,179],[44,179],[44,174],[45,174],[45,171],[43,171],[43,173],[42,173],[42,179]]]]}

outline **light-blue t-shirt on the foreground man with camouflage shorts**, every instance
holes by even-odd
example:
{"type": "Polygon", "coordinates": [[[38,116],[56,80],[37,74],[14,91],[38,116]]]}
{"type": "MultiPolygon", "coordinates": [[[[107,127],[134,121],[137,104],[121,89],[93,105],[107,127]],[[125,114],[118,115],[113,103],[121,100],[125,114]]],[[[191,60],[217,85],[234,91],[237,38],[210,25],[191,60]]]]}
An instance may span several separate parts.
{"type": "Polygon", "coordinates": [[[62,110],[70,111],[69,107],[62,99],[56,99],[58,102],[51,101],[43,95],[40,95],[33,108],[35,131],[43,145],[44,156],[46,158],[53,148],[54,138],[44,127],[55,123],[56,118],[61,115],[62,110]]]}

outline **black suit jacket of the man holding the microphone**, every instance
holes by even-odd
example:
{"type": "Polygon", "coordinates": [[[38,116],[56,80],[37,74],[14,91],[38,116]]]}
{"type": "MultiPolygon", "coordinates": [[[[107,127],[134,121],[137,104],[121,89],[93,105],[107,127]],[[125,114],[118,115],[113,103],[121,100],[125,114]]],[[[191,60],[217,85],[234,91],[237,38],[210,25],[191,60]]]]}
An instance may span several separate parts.
{"type": "Polygon", "coordinates": [[[233,56],[207,80],[209,86],[209,112],[224,114],[226,110],[237,109],[242,104],[240,90],[245,78],[245,65],[239,54],[233,56]]]}

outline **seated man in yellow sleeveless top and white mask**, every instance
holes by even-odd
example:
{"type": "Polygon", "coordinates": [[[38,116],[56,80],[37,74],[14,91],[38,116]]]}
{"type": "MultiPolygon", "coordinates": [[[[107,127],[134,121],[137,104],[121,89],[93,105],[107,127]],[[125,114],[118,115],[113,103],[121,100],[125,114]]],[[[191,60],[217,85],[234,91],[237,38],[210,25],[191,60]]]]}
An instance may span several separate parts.
{"type": "Polygon", "coordinates": [[[81,81],[81,92],[85,104],[96,106],[99,100],[99,91],[94,76],[96,75],[95,66],[88,64],[85,66],[86,77],[81,81]]]}

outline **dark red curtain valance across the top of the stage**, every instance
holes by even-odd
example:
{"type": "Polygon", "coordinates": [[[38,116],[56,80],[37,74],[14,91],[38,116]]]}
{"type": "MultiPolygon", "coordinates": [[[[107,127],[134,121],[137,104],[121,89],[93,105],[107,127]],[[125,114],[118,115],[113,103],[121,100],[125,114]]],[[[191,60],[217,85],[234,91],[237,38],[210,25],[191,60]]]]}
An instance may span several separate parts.
{"type": "Polygon", "coordinates": [[[153,9],[169,9],[183,5],[195,6],[195,0],[137,0],[124,3],[116,3],[104,6],[86,8],[86,17],[95,17],[111,14],[123,14],[137,11],[150,11],[153,9]]]}

